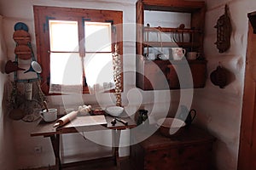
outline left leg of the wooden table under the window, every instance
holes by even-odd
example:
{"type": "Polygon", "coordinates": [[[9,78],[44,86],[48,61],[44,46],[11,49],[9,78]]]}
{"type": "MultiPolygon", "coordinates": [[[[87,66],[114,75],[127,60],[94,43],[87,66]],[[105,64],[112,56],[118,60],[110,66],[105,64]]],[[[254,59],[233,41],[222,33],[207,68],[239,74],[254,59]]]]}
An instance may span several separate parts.
{"type": "Polygon", "coordinates": [[[51,135],[50,141],[55,153],[55,169],[61,170],[60,134],[51,135]]]}

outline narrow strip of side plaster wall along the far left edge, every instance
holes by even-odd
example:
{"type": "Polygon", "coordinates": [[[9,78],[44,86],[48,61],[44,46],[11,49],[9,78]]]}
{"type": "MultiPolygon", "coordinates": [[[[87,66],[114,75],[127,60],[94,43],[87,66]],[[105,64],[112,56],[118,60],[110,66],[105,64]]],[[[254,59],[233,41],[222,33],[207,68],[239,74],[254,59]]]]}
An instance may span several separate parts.
{"type": "Polygon", "coordinates": [[[4,84],[7,76],[4,73],[4,65],[7,61],[6,46],[3,39],[3,16],[0,15],[0,167],[1,169],[15,169],[15,156],[13,151],[12,128],[7,118],[7,111],[4,107],[5,96],[3,94],[4,84]]]}

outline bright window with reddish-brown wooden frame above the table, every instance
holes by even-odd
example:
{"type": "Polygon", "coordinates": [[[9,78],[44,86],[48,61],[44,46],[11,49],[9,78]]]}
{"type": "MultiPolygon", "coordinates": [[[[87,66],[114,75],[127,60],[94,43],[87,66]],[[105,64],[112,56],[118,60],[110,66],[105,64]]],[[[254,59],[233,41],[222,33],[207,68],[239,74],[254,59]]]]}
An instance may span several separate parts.
{"type": "Polygon", "coordinates": [[[44,94],[113,89],[115,44],[123,54],[122,12],[34,6],[34,18],[44,94]]]}

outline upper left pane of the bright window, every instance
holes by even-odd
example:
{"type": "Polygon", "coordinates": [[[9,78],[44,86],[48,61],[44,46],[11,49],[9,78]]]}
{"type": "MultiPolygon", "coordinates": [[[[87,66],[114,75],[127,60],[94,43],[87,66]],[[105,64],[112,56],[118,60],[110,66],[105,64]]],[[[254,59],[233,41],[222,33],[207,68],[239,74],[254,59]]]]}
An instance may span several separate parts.
{"type": "Polygon", "coordinates": [[[50,51],[78,52],[78,22],[65,20],[49,20],[49,39],[50,51]]]}

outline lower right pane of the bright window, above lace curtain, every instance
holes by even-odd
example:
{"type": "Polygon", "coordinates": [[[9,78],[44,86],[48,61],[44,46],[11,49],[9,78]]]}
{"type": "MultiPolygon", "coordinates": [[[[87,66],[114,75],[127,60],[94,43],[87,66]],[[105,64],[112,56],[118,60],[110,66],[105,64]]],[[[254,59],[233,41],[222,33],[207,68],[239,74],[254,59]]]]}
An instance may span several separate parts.
{"type": "Polygon", "coordinates": [[[113,61],[111,53],[86,54],[84,69],[89,86],[113,82],[113,61]]]}

